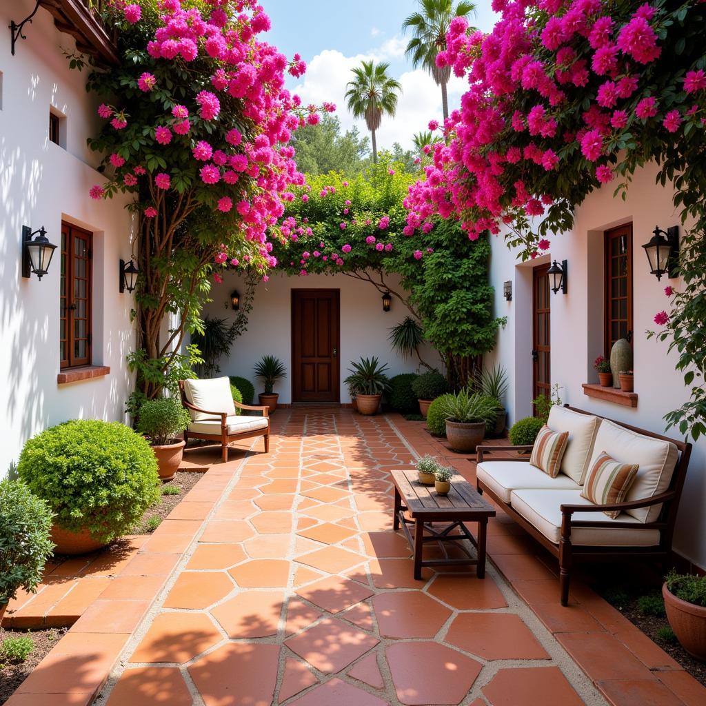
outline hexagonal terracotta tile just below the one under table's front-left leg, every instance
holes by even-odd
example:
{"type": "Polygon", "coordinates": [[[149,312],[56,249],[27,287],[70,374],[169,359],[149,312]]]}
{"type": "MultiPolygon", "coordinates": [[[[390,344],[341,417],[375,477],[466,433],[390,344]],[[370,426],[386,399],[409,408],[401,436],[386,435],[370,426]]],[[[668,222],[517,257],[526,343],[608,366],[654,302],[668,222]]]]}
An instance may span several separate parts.
{"type": "Polygon", "coordinates": [[[421,591],[396,591],[373,597],[383,638],[433,638],[451,611],[421,591]]]}

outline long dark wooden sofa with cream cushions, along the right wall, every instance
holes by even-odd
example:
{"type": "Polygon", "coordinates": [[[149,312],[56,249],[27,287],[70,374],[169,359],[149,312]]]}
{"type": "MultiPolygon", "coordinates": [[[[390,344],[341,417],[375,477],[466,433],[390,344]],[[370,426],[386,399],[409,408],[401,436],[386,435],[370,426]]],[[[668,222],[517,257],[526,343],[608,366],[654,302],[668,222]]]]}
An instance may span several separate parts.
{"type": "Polygon", "coordinates": [[[568,604],[576,563],[639,556],[666,568],[691,444],[569,405],[552,407],[547,424],[569,432],[556,478],[529,465],[529,454],[488,457],[499,451],[527,452],[532,446],[479,446],[477,487],[558,558],[561,604],[568,604]],[[580,496],[592,461],[603,451],[640,465],[623,503],[594,505],[580,496]],[[605,510],[619,510],[620,515],[611,519],[605,510]]]}

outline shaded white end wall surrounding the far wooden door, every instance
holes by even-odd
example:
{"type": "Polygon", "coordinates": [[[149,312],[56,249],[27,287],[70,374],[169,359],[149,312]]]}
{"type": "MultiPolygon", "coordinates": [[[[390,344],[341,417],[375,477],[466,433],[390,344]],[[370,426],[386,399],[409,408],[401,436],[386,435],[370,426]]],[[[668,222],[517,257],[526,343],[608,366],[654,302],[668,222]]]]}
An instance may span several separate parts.
{"type": "MultiPolygon", "coordinates": [[[[390,285],[397,280],[390,277],[390,285]]],[[[235,312],[230,307],[233,289],[243,294],[245,283],[235,275],[227,273],[222,285],[211,291],[213,301],[205,307],[205,314],[212,317],[232,319],[235,312]]],[[[346,275],[309,275],[287,277],[273,275],[269,282],[261,282],[257,289],[248,330],[237,338],[229,359],[220,361],[224,375],[240,375],[248,378],[256,393],[262,392],[261,381],[256,380],[253,366],[265,354],[275,355],[285,364],[287,378],[275,385],[280,402],[292,402],[292,289],[339,289],[340,290],[340,400],[350,402],[343,378],[351,361],[361,356],[377,356],[381,363],[388,364],[390,376],[411,373],[417,370],[419,361],[396,357],[390,349],[390,328],[407,316],[407,309],[393,297],[391,310],[383,311],[381,294],[367,282],[354,280],[346,275]]],[[[422,357],[429,364],[441,368],[435,352],[424,348],[422,357]]]]}

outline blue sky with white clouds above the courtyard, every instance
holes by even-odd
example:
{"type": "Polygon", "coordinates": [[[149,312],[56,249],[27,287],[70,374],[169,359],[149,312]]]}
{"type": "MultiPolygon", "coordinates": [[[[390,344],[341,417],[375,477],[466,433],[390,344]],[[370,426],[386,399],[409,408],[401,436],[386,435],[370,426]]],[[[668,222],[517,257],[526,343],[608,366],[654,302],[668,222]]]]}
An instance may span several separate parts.
{"type": "MultiPolygon", "coordinates": [[[[385,119],[378,132],[380,147],[391,147],[397,141],[409,148],[414,133],[426,129],[429,120],[441,119],[441,90],[429,74],[414,70],[404,55],[409,37],[402,35],[402,21],[417,9],[417,0],[261,2],[272,20],[272,29],[264,38],[290,59],[298,52],[309,65],[303,78],[288,81],[304,102],[332,100],[345,128],[357,124],[361,133],[367,133],[363,121],[354,121],[347,114],[343,95],[352,66],[372,58],[388,61],[390,73],[403,88],[397,115],[385,119]]],[[[472,22],[484,31],[492,28],[495,18],[489,0],[478,2],[472,22]]],[[[464,86],[462,80],[452,79],[452,109],[464,86]]]]}

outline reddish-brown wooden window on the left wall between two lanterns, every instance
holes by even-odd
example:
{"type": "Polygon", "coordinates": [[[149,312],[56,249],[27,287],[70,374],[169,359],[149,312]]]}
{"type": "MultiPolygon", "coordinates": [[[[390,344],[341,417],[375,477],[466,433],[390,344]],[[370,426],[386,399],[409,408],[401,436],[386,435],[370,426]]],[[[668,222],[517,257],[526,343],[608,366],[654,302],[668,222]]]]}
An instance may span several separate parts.
{"type": "Polygon", "coordinates": [[[71,225],[71,223],[61,222],[61,262],[64,265],[64,274],[61,277],[59,287],[59,319],[65,319],[66,338],[61,338],[59,333],[59,369],[68,370],[71,368],[80,368],[92,364],[93,347],[93,234],[83,228],[71,225]],[[76,252],[76,235],[88,241],[88,258],[87,258],[87,285],[86,285],[86,355],[83,358],[78,358],[74,354],[76,349],[76,321],[71,316],[71,305],[73,304],[74,282],[76,280],[75,273],[75,257],[76,252]],[[66,355],[62,343],[66,340],[66,355]]]}

